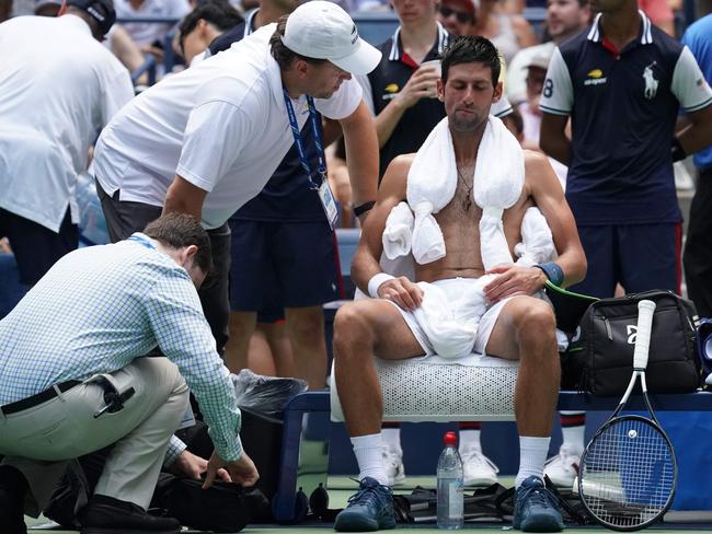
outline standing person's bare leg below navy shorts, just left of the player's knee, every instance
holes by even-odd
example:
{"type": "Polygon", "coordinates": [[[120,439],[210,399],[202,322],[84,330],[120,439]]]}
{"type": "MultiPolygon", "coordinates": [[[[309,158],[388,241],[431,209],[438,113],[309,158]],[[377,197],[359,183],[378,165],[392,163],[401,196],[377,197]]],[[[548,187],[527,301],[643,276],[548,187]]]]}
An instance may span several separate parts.
{"type": "Polygon", "coordinates": [[[287,333],[297,375],[311,391],[323,390],[326,381],[326,343],[321,306],[287,307],[287,333]]]}

